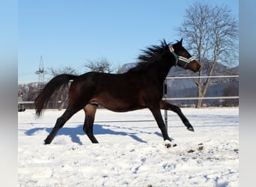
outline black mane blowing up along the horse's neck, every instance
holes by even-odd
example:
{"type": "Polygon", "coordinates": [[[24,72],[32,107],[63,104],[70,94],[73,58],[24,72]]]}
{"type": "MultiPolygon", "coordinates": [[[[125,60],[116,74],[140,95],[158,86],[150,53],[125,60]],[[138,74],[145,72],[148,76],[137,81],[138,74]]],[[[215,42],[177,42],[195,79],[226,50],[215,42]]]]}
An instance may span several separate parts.
{"type": "Polygon", "coordinates": [[[162,53],[168,48],[169,45],[170,43],[166,43],[165,40],[162,40],[159,46],[153,45],[147,47],[147,49],[141,50],[143,54],[138,56],[137,65],[129,69],[129,71],[142,70],[150,67],[159,57],[162,56],[162,53]]]}

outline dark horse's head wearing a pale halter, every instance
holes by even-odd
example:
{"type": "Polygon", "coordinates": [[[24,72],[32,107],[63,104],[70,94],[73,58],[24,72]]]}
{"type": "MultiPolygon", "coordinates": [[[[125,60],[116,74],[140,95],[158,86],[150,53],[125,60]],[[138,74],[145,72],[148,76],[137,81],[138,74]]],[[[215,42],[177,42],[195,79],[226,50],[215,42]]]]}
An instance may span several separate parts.
{"type": "Polygon", "coordinates": [[[184,69],[198,72],[200,64],[195,60],[195,57],[189,54],[189,52],[182,46],[182,39],[169,46],[169,49],[175,58],[175,67],[183,67],[184,69]]]}

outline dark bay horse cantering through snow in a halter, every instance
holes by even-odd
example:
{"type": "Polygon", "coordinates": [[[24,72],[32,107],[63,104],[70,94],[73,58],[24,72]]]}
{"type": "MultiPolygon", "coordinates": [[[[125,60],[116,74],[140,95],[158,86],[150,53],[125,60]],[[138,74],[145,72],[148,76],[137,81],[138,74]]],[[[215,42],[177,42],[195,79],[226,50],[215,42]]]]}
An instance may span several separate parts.
{"type": "Polygon", "coordinates": [[[67,109],[58,117],[52,132],[45,139],[45,144],[50,144],[64,123],[81,109],[85,111],[83,130],[92,143],[98,143],[93,133],[94,116],[98,105],[118,112],[149,108],[161,129],[164,141],[171,139],[165,129],[160,109],[174,111],[186,128],[194,131],[180,108],[163,101],[162,94],[163,83],[171,67],[179,66],[198,72],[198,61],[183,48],[182,40],[172,45],[162,40],[159,46],[150,46],[143,52],[138,56],[137,66],[126,73],[89,72],[80,76],[61,74],[51,79],[34,101],[38,117],[52,93],[60,91],[59,88],[67,85],[70,80],[73,82],[70,85],[67,109]]]}

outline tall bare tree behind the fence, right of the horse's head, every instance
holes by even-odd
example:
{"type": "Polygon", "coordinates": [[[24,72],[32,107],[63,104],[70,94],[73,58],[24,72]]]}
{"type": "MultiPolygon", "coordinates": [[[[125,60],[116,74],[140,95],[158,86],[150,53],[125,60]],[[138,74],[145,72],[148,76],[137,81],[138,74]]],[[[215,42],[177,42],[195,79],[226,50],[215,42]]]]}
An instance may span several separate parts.
{"type": "MultiPolygon", "coordinates": [[[[210,6],[195,2],[186,9],[184,22],[177,28],[177,33],[186,37],[187,49],[192,50],[201,65],[199,76],[208,72],[212,76],[218,61],[231,65],[237,61],[238,21],[231,15],[227,6],[210,6]],[[210,61],[210,67],[204,66],[210,61]],[[207,71],[206,71],[207,70],[207,71]]],[[[195,80],[198,97],[204,97],[210,85],[210,78],[195,80]]],[[[197,108],[201,108],[202,99],[198,99],[197,108]]]]}

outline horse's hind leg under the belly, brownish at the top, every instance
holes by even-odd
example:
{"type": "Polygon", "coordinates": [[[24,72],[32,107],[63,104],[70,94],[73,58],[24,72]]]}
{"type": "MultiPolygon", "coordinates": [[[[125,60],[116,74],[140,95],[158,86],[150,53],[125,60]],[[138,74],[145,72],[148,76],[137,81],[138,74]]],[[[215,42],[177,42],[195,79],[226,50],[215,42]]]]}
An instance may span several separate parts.
{"type": "Polygon", "coordinates": [[[97,105],[88,104],[85,106],[85,123],[84,123],[84,132],[88,135],[91,142],[94,144],[99,143],[94,137],[94,117],[97,110],[97,105]]]}

